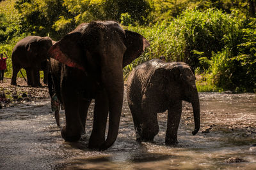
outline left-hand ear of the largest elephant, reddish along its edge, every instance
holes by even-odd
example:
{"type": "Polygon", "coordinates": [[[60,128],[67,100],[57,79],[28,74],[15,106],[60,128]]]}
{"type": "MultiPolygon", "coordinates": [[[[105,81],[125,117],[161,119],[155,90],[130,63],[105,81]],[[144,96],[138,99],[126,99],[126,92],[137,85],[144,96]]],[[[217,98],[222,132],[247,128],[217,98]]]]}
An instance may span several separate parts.
{"type": "Polygon", "coordinates": [[[83,48],[81,48],[79,43],[80,39],[81,32],[70,32],[51,46],[49,49],[50,57],[69,67],[85,71],[83,66],[83,48]]]}

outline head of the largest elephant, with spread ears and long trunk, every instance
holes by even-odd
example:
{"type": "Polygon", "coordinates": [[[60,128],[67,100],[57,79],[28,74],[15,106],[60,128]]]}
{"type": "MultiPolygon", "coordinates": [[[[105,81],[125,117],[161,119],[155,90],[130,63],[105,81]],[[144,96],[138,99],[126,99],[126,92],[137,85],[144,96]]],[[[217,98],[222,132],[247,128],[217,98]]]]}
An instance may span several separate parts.
{"type": "Polygon", "coordinates": [[[109,130],[102,150],[113,145],[118,134],[124,95],[122,68],[139,57],[147,46],[147,39],[122,29],[116,22],[97,21],[79,25],[49,50],[52,58],[83,71],[106,89],[109,130]]]}

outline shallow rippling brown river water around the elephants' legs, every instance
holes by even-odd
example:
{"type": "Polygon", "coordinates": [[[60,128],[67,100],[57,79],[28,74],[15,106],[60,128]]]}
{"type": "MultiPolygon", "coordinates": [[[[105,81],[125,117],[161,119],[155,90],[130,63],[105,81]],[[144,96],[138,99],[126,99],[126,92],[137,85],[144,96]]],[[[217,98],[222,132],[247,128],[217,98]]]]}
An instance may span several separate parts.
{"type": "MultiPolygon", "coordinates": [[[[191,104],[183,103],[177,146],[165,146],[166,112],[152,143],[136,142],[124,98],[118,139],[104,152],[89,150],[93,103],[86,134],[61,138],[50,101],[0,110],[0,169],[256,169],[256,95],[200,93],[201,129],[195,136],[191,104]],[[243,162],[228,163],[231,157],[243,162]]],[[[61,125],[65,115],[60,112],[61,125]]]]}

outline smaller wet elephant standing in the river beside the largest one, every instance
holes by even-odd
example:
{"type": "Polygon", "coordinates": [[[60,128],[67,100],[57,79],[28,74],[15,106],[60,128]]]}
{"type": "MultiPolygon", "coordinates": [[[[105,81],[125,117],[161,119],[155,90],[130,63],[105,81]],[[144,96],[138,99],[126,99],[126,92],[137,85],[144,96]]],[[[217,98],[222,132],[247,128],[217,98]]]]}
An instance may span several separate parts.
{"type": "Polygon", "coordinates": [[[182,100],[192,103],[195,135],[200,128],[200,104],[195,75],[184,62],[153,59],[137,66],[127,80],[127,99],[137,141],[152,141],[159,131],[157,113],[168,110],[166,145],[174,145],[182,100]]]}

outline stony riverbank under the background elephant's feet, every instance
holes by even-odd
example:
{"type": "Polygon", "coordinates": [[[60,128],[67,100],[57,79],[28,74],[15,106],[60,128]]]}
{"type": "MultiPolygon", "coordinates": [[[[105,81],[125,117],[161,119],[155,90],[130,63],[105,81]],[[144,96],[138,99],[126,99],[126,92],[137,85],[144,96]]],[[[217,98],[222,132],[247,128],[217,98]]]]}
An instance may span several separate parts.
{"type": "Polygon", "coordinates": [[[50,99],[47,85],[42,82],[42,87],[28,87],[23,78],[17,78],[17,86],[10,85],[10,82],[10,78],[5,78],[4,83],[0,83],[0,108],[50,99]]]}

